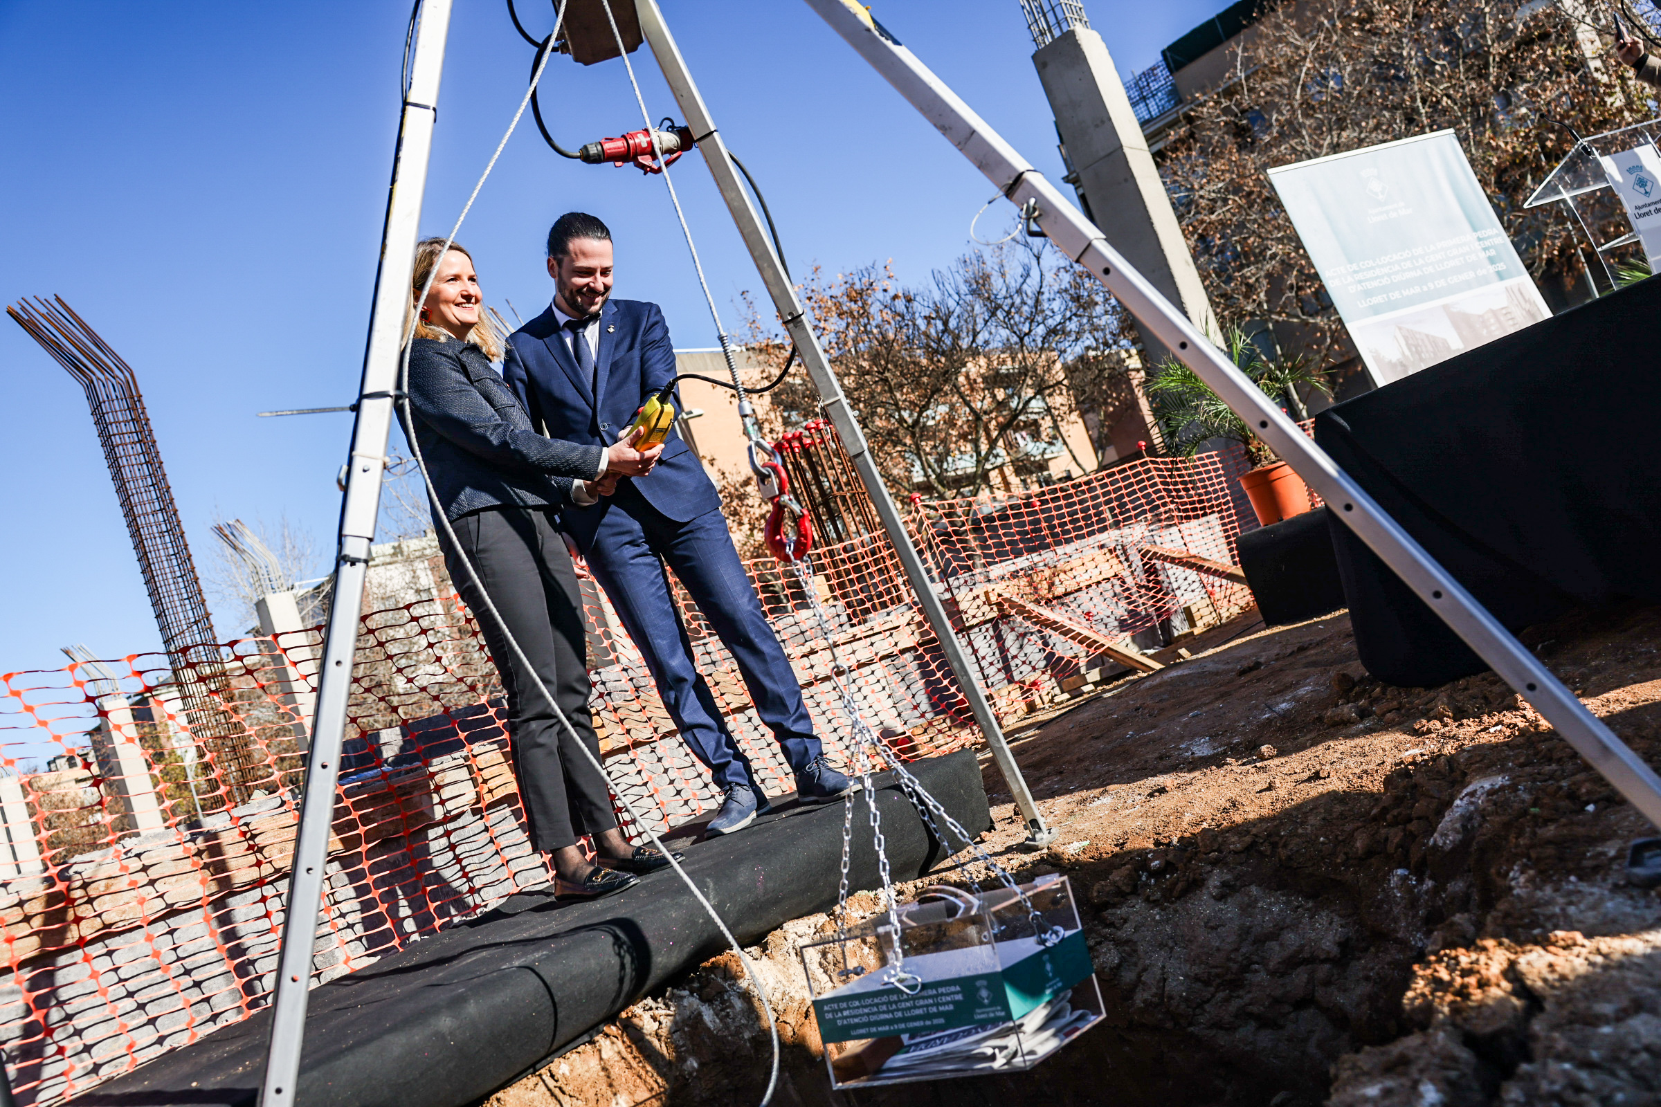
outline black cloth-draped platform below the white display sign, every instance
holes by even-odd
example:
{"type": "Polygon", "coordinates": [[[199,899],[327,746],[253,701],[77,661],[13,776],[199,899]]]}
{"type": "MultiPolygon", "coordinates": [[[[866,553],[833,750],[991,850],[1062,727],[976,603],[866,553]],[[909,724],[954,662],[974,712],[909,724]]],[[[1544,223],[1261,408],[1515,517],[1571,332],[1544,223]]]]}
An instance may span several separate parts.
{"type": "MultiPolygon", "coordinates": [[[[1327,408],[1316,441],[1507,627],[1661,599],[1661,280],[1327,408]]],[[[1360,661],[1427,687],[1487,666],[1332,511],[1360,661]]]]}

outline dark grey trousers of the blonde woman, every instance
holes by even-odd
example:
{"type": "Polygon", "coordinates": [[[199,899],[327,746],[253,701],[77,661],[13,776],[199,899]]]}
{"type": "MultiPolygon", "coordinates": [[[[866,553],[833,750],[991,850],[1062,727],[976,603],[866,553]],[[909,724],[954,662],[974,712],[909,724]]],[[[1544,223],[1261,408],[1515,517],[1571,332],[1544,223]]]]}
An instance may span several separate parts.
{"type": "MultiPolygon", "coordinates": [[[[588,637],[580,614],[581,593],[551,510],[498,508],[465,514],[455,538],[478,573],[490,602],[518,641],[525,659],[553,694],[578,740],[600,757],[600,737],[588,715],[588,637]]],[[[442,528],[440,528],[442,531],[442,528]]],[[[508,646],[472,574],[442,539],[450,579],[485,636],[508,694],[508,735],[530,841],[537,850],[575,845],[583,835],[616,827],[605,773],[575,747],[548,700],[508,646]]]]}

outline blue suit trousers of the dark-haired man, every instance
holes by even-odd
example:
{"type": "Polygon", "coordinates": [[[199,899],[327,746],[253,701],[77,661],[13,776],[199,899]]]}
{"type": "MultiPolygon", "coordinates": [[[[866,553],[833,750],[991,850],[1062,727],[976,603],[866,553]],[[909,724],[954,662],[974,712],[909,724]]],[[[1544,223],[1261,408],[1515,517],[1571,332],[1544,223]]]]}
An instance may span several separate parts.
{"type": "Polygon", "coordinates": [[[761,597],[733,548],[721,511],[678,523],[623,481],[605,508],[588,549],[588,568],[644,656],[658,695],[681,737],[709,767],[714,782],[721,787],[751,783],[749,762],[721,722],[714,694],[698,672],[664,564],[733,654],[756,712],[772,730],[791,767],[802,768],[819,757],[821,745],[802,702],[801,682],[761,609],[761,597]]]}

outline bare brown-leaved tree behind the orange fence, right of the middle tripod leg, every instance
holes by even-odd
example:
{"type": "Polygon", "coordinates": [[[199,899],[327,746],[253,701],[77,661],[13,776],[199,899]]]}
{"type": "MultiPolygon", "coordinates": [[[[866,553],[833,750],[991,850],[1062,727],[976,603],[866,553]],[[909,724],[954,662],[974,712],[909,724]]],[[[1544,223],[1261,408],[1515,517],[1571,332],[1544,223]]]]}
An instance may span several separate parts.
{"type": "MultiPolygon", "coordinates": [[[[1085,415],[1096,430],[1129,398],[1123,312],[1045,239],[967,254],[919,289],[884,266],[834,277],[816,269],[802,294],[877,466],[900,493],[973,496],[998,471],[1036,473],[1056,443],[1071,450],[1066,420],[1085,415]]],[[[757,354],[782,363],[784,344],[752,332],[757,354]]],[[[817,415],[804,377],[772,395],[784,425],[817,415]]],[[[1075,456],[1073,468],[1091,465],[1075,456]]]]}

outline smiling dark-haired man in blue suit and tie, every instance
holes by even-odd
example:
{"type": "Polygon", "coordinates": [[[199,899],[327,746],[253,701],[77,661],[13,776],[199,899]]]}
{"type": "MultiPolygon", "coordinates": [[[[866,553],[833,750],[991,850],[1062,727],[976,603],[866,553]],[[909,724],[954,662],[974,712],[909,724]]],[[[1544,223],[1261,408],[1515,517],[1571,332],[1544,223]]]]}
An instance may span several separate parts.
{"type": "MultiPolygon", "coordinates": [[[[663,312],[613,300],[611,261],[606,224],[581,212],[560,216],[548,231],[553,304],[510,339],[518,365],[510,363],[508,383],[550,438],[610,446],[646,397],[674,377],[663,312]]],[[[679,410],[679,395],[674,405],[679,410]]],[[[671,433],[656,468],[621,478],[598,505],[563,511],[561,524],[644,656],[681,737],[724,792],[711,835],[741,830],[771,805],[698,672],[664,566],[737,661],[761,720],[796,772],[797,798],[826,803],[854,787],[814,737],[796,672],[721,518],[721,496],[686,440],[671,433]]]]}

